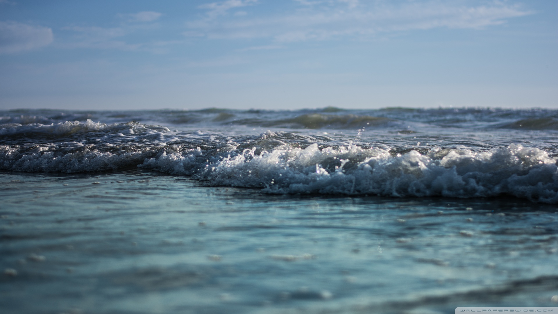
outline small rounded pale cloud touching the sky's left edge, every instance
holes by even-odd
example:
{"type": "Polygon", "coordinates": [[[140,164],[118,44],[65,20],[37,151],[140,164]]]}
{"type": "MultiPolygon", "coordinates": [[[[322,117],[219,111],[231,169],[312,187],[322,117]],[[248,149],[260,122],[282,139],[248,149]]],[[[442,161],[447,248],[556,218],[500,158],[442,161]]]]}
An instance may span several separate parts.
{"type": "Polygon", "coordinates": [[[48,27],[0,22],[0,54],[12,54],[49,45],[54,36],[48,27]]]}

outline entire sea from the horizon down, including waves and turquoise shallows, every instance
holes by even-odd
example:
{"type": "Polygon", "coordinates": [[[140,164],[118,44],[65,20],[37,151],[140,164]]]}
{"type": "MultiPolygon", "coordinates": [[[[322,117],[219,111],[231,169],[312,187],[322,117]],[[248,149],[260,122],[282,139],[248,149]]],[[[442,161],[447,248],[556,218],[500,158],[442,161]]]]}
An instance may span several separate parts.
{"type": "Polygon", "coordinates": [[[558,111],[0,112],[7,313],[558,301],[558,111]]]}

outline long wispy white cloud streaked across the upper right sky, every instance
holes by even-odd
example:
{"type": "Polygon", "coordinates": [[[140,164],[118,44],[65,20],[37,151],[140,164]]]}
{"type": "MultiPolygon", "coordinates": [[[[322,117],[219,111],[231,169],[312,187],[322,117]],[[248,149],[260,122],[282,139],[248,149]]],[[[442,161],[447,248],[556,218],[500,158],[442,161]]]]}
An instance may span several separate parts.
{"type": "Polygon", "coordinates": [[[276,42],[326,40],[337,37],[367,37],[376,34],[432,28],[481,29],[506,23],[509,18],[532,12],[509,1],[464,0],[459,2],[294,0],[296,6],[282,14],[252,18],[225,15],[228,9],[256,4],[229,0],[205,4],[211,17],[187,23],[186,36],[209,39],[270,39],[276,42]],[[304,8],[304,9],[302,9],[304,8]]]}

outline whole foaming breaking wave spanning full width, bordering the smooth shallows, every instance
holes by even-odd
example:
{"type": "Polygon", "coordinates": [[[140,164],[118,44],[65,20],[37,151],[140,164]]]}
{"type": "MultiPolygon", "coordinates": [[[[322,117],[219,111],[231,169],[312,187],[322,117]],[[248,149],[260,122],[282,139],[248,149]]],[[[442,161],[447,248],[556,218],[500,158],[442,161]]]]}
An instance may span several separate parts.
{"type": "Polygon", "coordinates": [[[79,173],[138,166],[267,193],[509,195],[558,203],[557,160],[544,150],[517,144],[487,150],[401,150],[325,135],[267,131],[232,136],[91,120],[12,123],[2,125],[0,135],[2,170],[79,173]]]}

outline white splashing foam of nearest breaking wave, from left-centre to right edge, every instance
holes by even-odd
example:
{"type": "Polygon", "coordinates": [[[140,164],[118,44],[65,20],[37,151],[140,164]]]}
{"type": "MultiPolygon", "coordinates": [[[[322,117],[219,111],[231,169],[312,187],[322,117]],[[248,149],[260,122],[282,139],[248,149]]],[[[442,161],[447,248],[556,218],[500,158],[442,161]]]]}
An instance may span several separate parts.
{"type": "Polygon", "coordinates": [[[558,202],[556,159],[545,151],[510,145],[505,149],[389,150],[359,146],[319,149],[256,147],[220,160],[200,149],[162,153],[141,166],[194,175],[211,185],[263,188],[268,193],[375,194],[383,196],[492,197],[509,194],[537,202],[558,202]],[[201,160],[200,160],[201,159],[201,160]],[[213,159],[215,159],[213,157],[213,159]],[[201,161],[201,163],[200,163],[201,161]]]}

